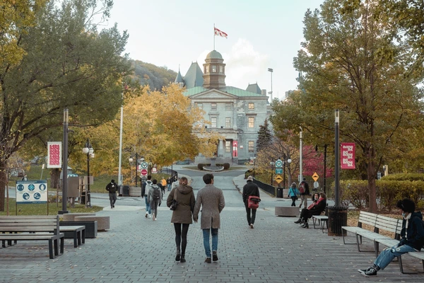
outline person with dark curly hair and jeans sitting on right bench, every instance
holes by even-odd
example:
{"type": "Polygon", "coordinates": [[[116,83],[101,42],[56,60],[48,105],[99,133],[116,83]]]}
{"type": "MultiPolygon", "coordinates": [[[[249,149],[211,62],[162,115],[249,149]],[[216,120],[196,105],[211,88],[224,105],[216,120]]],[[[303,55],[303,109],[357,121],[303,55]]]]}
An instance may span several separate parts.
{"type": "Polygon", "coordinates": [[[396,246],[382,250],[371,267],[358,270],[365,277],[377,276],[377,271],[384,270],[394,258],[404,253],[419,251],[424,246],[423,215],[421,212],[415,212],[415,203],[409,199],[399,200],[396,207],[401,210],[404,217],[401,241],[396,246]]]}

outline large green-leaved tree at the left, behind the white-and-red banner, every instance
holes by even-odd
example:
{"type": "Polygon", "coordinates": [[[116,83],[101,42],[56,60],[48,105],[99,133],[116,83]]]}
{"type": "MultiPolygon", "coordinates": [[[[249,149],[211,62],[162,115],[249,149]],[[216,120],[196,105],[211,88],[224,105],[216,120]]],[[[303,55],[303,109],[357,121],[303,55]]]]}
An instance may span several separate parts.
{"type": "Polygon", "coordinates": [[[129,71],[128,35],[117,25],[98,32],[93,15],[107,16],[112,1],[54,1],[35,14],[35,25],[19,35],[25,52],[16,65],[0,69],[0,211],[4,211],[8,158],[48,129],[112,120],[122,103],[119,80],[129,71]],[[98,3],[104,4],[98,8],[98,3]]]}

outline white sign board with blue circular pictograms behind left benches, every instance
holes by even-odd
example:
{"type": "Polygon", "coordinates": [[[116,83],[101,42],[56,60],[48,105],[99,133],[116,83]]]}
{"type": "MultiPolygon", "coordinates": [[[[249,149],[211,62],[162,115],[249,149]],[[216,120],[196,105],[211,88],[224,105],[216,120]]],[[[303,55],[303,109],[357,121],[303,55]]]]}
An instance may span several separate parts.
{"type": "Polygon", "coordinates": [[[47,203],[47,180],[16,181],[16,203],[47,203]]]}

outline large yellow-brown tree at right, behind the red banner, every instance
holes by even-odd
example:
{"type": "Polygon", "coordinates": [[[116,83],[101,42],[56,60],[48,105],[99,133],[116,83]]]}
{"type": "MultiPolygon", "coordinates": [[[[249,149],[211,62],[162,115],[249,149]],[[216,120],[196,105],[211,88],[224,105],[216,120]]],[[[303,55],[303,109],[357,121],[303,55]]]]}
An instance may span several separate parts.
{"type": "Polygon", "coordinates": [[[378,21],[377,1],[326,0],[305,14],[305,42],[294,60],[300,89],[273,105],[276,130],[301,126],[305,142],[332,144],[334,110],[341,110],[341,141],[357,144],[360,178],[368,181],[370,212],[376,212],[375,178],[382,163],[421,139],[419,79],[404,76],[413,58],[394,44],[392,28],[378,21]],[[351,4],[355,2],[357,6],[351,4]]]}

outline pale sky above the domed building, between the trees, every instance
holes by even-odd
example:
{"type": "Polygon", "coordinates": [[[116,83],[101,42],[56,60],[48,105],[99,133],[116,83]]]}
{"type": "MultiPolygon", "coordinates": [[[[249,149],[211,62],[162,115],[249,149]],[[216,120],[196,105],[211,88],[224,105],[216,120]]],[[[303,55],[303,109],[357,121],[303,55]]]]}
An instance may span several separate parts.
{"type": "Polygon", "coordinates": [[[215,37],[223,55],[225,84],[246,89],[258,83],[283,99],[297,89],[293,57],[303,40],[307,8],[323,0],[114,0],[106,28],[117,23],[127,30],[131,59],[187,73],[192,62],[203,69],[213,50],[213,25],[228,34],[215,37]]]}

